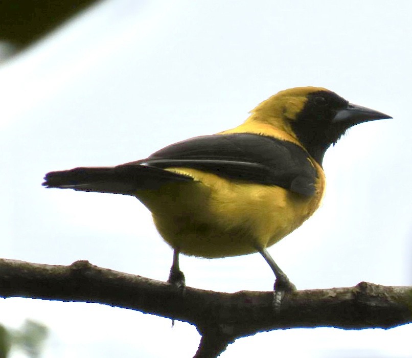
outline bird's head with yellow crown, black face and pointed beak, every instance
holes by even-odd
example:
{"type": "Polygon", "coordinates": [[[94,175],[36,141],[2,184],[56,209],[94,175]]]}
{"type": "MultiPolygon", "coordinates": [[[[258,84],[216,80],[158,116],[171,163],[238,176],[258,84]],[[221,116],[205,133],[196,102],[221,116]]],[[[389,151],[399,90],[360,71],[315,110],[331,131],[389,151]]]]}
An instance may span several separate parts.
{"type": "Polygon", "coordinates": [[[251,111],[254,120],[272,124],[296,138],[322,164],[323,156],[355,124],[392,118],[376,110],[349,103],[329,89],[285,89],[251,111]]]}

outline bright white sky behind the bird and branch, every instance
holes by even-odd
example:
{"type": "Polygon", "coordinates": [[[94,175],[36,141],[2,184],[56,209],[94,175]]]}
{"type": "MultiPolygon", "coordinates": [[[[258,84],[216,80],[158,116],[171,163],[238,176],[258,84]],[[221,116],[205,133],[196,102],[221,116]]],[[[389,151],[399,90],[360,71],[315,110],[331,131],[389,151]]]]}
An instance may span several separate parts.
{"type": "MultiPolygon", "coordinates": [[[[115,165],[240,124],[281,89],[314,85],[392,120],[352,128],[325,158],[327,194],[269,251],[299,289],[412,284],[412,3],[109,0],[0,67],[0,251],[165,280],[172,252],[131,197],[45,190],[44,173],[115,165]]],[[[189,286],[270,290],[257,254],[181,258],[189,286]]],[[[0,320],[51,328],[44,357],[191,357],[195,328],[97,304],[7,299],[0,320]]],[[[412,325],[295,329],[221,356],[410,357],[412,325]],[[292,353],[291,353],[292,352],[292,353]]],[[[15,353],[13,358],[20,357],[15,353]]]]}

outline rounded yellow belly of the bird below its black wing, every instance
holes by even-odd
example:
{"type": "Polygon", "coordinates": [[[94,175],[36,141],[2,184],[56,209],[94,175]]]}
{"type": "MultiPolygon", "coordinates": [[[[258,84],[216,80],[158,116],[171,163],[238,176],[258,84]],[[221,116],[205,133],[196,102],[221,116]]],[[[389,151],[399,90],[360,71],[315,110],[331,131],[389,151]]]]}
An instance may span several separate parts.
{"type": "Polygon", "coordinates": [[[317,193],[305,197],[281,187],[236,183],[194,169],[169,170],[189,174],[195,181],[136,196],[152,212],[164,240],[197,257],[238,256],[269,247],[313,214],[324,190],[323,177],[317,193]]]}

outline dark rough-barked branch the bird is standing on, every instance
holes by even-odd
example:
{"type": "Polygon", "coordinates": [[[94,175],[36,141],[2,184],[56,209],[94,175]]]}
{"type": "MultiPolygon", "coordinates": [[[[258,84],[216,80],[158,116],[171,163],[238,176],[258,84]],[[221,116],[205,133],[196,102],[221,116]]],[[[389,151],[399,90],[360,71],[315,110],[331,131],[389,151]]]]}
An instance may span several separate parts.
{"type": "Polygon", "coordinates": [[[196,358],[213,358],[236,339],[285,328],[392,328],[412,322],[412,286],[360,282],[354,287],[287,294],[281,312],[271,292],[233,294],[174,286],[76,261],[69,266],[0,259],[0,297],[95,302],[196,326],[196,358]]]}

